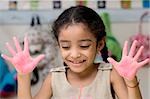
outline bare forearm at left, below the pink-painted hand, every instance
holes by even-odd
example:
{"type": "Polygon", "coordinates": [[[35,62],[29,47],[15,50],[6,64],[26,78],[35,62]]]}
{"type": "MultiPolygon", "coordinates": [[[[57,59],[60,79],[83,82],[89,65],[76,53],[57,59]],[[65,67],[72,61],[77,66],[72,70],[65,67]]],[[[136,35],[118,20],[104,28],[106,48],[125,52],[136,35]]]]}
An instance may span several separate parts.
{"type": "Polygon", "coordinates": [[[32,99],[30,74],[18,75],[18,99],[32,99]]]}

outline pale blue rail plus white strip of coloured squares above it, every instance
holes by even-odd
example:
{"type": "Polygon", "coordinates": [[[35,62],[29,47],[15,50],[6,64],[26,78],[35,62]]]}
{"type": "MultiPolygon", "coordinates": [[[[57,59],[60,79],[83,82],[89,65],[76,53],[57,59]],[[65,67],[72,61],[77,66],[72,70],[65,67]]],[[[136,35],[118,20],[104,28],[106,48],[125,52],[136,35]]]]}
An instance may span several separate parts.
{"type": "MultiPolygon", "coordinates": [[[[149,1],[145,5],[142,0],[1,0],[0,25],[29,24],[31,17],[39,15],[41,22],[53,22],[66,8],[85,5],[97,13],[108,12],[112,22],[138,22],[140,16],[149,11],[149,1]]],[[[150,21],[147,16],[145,22],[150,21]]]]}

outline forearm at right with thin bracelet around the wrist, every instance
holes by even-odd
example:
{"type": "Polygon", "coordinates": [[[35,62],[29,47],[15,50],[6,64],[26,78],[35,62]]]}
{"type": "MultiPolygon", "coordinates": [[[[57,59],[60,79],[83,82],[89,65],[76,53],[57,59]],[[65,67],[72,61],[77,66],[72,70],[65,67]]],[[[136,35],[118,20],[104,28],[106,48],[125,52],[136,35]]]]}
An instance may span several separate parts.
{"type": "Polygon", "coordinates": [[[125,80],[128,89],[128,99],[142,99],[139,81],[135,77],[132,81],[125,80]]]}

